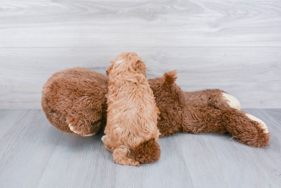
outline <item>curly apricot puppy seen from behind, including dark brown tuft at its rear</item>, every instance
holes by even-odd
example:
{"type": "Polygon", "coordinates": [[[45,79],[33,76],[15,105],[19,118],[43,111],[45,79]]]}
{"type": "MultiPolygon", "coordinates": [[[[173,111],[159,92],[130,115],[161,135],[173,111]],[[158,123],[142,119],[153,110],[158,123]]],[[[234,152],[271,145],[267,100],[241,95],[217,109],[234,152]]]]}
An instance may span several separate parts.
{"type": "Polygon", "coordinates": [[[139,166],[160,157],[158,108],[136,53],[119,54],[106,70],[110,78],[104,146],[118,164],[139,166]],[[145,154],[143,154],[145,153],[145,154]]]}

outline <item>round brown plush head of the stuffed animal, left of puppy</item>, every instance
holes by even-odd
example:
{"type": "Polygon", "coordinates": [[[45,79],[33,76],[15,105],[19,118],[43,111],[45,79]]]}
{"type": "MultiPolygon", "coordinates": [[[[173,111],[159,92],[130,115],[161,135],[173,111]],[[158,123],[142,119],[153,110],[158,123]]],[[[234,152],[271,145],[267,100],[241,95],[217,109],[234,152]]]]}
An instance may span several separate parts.
{"type": "Polygon", "coordinates": [[[96,133],[106,119],[108,77],[75,67],[54,73],[44,84],[41,104],[54,127],[80,135],[96,133]]]}

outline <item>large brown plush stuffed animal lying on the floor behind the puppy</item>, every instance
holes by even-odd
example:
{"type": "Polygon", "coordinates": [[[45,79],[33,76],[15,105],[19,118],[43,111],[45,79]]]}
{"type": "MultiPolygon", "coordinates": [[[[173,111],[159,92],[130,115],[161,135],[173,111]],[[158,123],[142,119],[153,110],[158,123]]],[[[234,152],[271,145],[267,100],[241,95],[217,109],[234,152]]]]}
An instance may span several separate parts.
{"type": "MultiPolygon", "coordinates": [[[[240,111],[240,103],[221,90],[183,92],[175,83],[176,71],[149,79],[160,114],[161,137],[174,133],[229,132],[238,142],[269,145],[266,124],[240,111]]],[[[105,124],[108,77],[82,67],[54,73],[44,84],[42,108],[57,129],[74,135],[95,135],[105,124]]],[[[142,156],[138,156],[142,157],[142,156]]]]}

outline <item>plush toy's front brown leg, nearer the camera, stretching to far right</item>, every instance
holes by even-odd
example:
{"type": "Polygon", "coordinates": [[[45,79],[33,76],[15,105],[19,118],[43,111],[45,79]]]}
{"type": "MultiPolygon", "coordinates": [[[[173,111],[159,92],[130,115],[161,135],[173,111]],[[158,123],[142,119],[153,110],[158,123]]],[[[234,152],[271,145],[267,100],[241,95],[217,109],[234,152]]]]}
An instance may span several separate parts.
{"type": "Polygon", "coordinates": [[[183,132],[219,133],[229,132],[238,142],[263,147],[269,145],[270,135],[261,120],[248,117],[245,112],[234,108],[213,109],[185,108],[183,132]]]}

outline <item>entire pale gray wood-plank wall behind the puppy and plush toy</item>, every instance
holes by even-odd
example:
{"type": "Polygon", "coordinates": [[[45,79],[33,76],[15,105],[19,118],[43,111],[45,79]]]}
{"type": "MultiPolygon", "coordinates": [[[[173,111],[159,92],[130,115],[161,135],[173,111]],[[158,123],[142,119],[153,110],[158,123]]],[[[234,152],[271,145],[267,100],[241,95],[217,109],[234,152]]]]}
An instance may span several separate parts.
{"type": "Polygon", "coordinates": [[[280,1],[0,2],[0,108],[41,108],[44,82],[105,74],[133,51],[147,77],[178,70],[184,91],[219,88],[242,108],[281,108],[280,1]]]}

